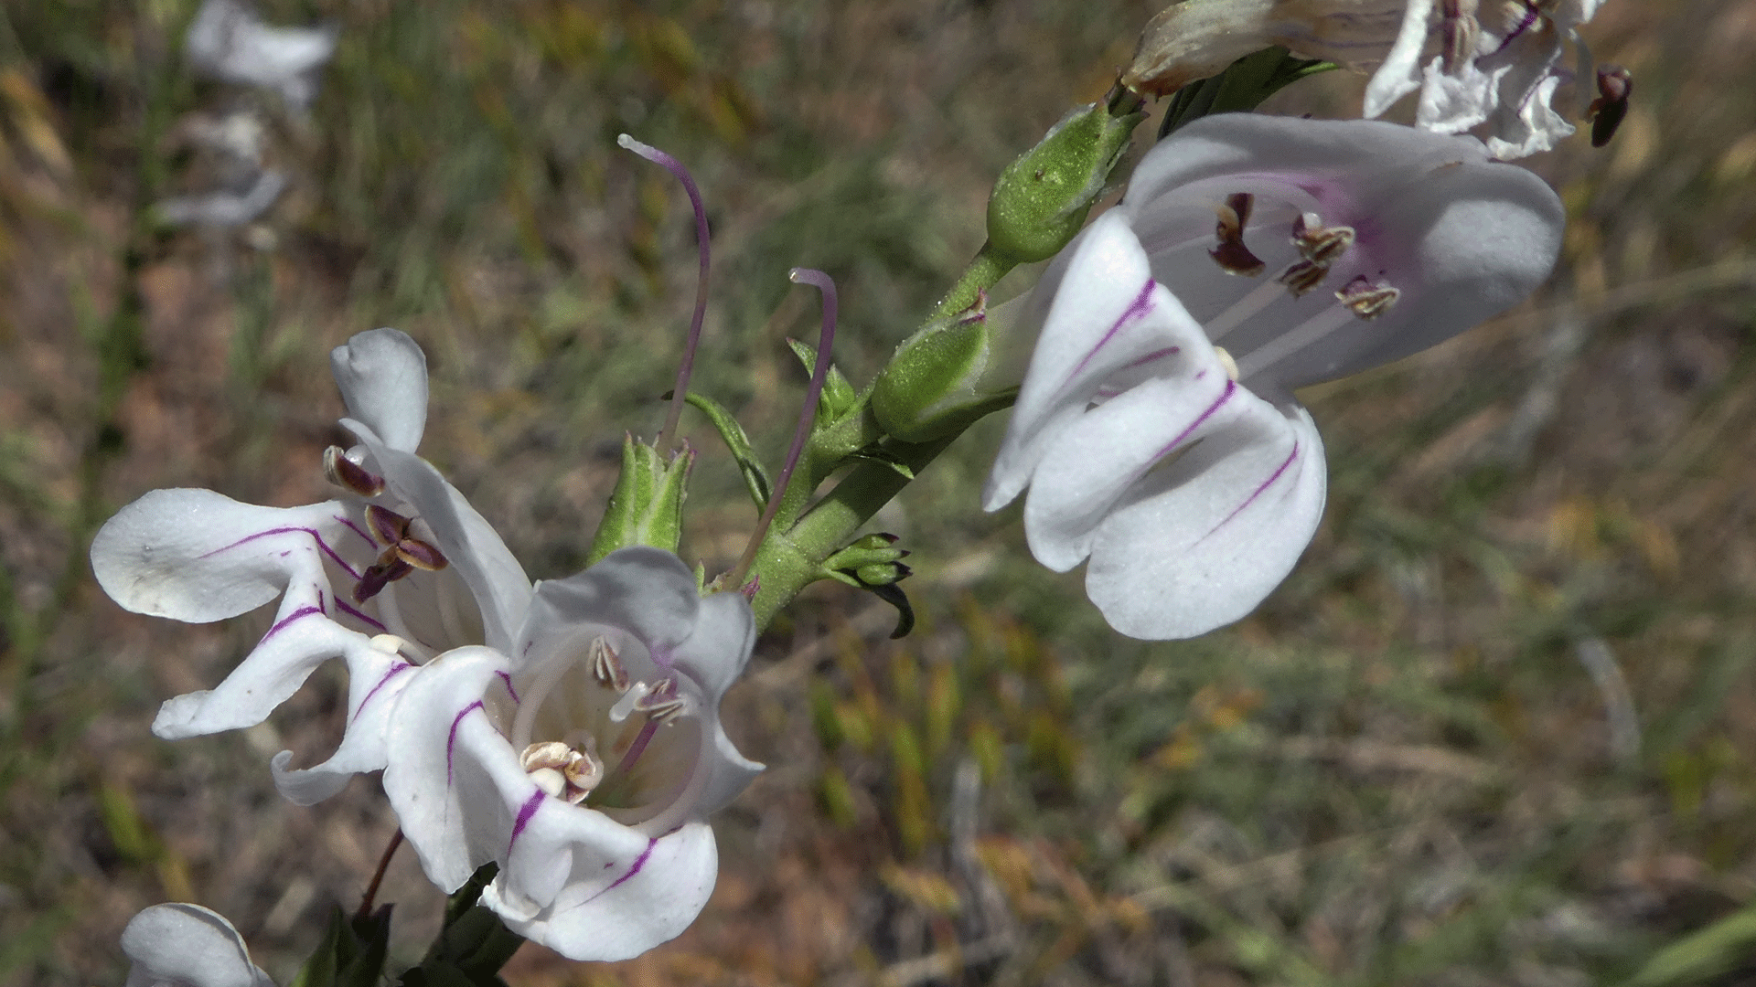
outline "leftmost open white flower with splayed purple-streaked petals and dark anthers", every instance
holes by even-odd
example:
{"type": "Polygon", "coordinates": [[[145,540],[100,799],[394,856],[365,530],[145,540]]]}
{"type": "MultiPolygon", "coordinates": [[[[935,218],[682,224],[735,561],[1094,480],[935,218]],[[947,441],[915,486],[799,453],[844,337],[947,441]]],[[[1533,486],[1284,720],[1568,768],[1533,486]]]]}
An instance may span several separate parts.
{"type": "Polygon", "coordinates": [[[155,490],[91,543],[98,585],[135,613],[207,623],[281,597],[225,681],[160,708],[162,738],[260,724],[323,660],[346,659],[341,748],[311,771],[286,771],[290,752],[274,759],[281,792],[302,804],[383,767],[383,718],[413,662],[460,645],[509,648],[530,599],[530,580],[488,522],[414,455],[427,423],[420,346],[379,328],[330,362],[353,414],[342,425],[360,437],[325,464],[346,497],[258,508],[212,490],[155,490]]]}

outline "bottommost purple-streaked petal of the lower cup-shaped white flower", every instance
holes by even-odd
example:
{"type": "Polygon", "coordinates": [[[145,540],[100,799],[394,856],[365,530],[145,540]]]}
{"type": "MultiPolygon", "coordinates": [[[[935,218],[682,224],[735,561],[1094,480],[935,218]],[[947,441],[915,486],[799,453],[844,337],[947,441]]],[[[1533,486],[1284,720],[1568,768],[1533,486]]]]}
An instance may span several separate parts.
{"type": "MultiPolygon", "coordinates": [[[[676,938],[701,913],[718,876],[713,831],[690,822],[650,845],[639,868],[609,868],[604,880],[572,883],[515,933],[567,959],[632,959],[676,938]]],[[[574,868],[579,869],[578,866],[574,868]]],[[[495,889],[483,899],[497,903],[495,889]]]]}

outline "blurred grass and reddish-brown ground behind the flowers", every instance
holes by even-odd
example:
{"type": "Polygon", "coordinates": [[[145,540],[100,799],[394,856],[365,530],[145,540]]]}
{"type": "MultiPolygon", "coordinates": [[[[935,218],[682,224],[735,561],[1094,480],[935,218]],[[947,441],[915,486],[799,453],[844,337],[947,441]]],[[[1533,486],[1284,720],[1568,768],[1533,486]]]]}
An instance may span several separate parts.
{"type": "MultiPolygon", "coordinates": [[[[123,924],[165,899],[286,983],[395,827],[374,780],[309,810],[269,782],[339,736],[339,669],[242,734],[148,734],[267,613],[121,613],[84,560],[114,508],[325,497],[327,353],[397,325],[434,372],[421,451],[532,576],[569,574],[694,299],[687,200],[616,133],[704,190],[697,386],[778,458],[785,337],[817,320],[787,269],[838,279],[864,381],[980,246],[992,176],[1108,88],[1154,4],[262,9],[339,26],[307,112],[198,81],[195,0],[0,5],[7,987],[119,983],[123,924]],[[156,228],[214,181],[195,135],[225,114],[267,128],[288,191],[242,228],[156,228]]],[[[1015,508],[976,509],[985,423],[880,516],[915,550],[917,632],[811,590],[727,701],[769,771],[715,820],[701,920],[627,964],[527,947],[507,980],[1756,983],[1756,0],[1612,0],[1587,35],[1638,88],[1607,149],[1528,162],[1570,207],[1551,288],[1306,395],[1331,502],[1256,616],[1108,632],[1015,508]]],[[[1349,116],[1361,84],[1266,109],[1349,116]]],[[[688,429],[685,553],[725,567],[753,511],[688,429]]],[[[413,854],[381,899],[413,962],[439,908],[413,854]]]]}

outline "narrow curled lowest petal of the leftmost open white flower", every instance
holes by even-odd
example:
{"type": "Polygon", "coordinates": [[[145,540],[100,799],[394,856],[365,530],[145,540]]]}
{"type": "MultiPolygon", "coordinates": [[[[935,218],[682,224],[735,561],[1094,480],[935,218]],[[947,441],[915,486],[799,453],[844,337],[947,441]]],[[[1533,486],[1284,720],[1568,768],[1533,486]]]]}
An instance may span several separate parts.
{"type": "Polygon", "coordinates": [[[390,711],[414,680],[407,659],[374,643],[348,652],[348,725],[341,746],[323,764],[288,769],[293,752],[274,755],[274,787],[290,803],[309,806],[341,792],[355,774],[379,771],[388,762],[390,711]]]}

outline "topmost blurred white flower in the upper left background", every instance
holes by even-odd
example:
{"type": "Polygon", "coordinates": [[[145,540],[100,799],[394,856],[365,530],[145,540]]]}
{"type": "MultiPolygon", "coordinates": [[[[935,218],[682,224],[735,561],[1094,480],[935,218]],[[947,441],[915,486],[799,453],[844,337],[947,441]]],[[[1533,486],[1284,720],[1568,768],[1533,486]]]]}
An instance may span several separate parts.
{"type": "Polygon", "coordinates": [[[335,54],[335,28],[276,28],[241,0],[205,0],[190,21],[184,53],[202,72],[277,90],[306,107],[318,91],[318,70],[335,54]]]}

